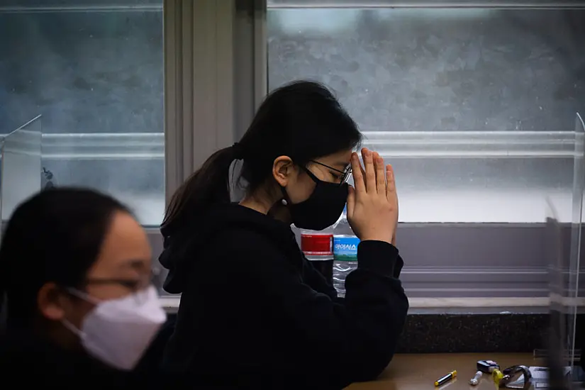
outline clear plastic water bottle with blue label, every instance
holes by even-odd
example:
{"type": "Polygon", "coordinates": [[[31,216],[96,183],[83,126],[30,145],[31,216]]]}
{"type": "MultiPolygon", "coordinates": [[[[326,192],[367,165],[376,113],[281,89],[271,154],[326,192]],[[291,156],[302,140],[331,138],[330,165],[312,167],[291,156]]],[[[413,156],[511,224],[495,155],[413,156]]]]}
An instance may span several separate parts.
{"type": "Polygon", "coordinates": [[[338,296],[345,296],[345,277],[357,268],[357,238],[347,222],[347,206],[333,225],[333,286],[338,296]]]}

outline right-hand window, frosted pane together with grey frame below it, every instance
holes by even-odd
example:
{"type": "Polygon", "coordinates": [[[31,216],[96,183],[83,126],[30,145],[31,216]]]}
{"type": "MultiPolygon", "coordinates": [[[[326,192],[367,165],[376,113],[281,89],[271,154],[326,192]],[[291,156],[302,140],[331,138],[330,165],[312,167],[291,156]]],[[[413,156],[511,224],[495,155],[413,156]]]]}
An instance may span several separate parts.
{"type": "Polygon", "coordinates": [[[584,6],[267,0],[268,89],[327,84],[395,167],[411,298],[547,305],[547,200],[580,210],[584,6]]]}

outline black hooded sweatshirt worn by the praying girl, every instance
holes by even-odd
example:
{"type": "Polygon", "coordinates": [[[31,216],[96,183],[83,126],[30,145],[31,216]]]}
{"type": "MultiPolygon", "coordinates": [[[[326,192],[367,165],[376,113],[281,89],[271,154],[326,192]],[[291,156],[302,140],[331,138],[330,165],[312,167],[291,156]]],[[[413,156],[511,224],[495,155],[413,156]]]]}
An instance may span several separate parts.
{"type": "Polygon", "coordinates": [[[182,293],[168,372],[240,387],[340,389],[376,378],[394,355],[408,299],[389,243],[360,243],[345,299],[289,225],[237,204],[199,213],[165,247],[165,290],[182,293]]]}

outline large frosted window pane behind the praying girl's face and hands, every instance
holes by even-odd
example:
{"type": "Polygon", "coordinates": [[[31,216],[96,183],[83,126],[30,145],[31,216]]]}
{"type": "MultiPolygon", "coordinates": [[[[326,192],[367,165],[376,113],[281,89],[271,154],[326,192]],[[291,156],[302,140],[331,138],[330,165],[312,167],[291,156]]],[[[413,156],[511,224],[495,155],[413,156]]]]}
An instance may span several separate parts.
{"type": "Polygon", "coordinates": [[[571,221],[584,17],[269,8],[269,88],[299,78],[332,87],[394,165],[403,222],[542,222],[546,196],[571,221]]]}

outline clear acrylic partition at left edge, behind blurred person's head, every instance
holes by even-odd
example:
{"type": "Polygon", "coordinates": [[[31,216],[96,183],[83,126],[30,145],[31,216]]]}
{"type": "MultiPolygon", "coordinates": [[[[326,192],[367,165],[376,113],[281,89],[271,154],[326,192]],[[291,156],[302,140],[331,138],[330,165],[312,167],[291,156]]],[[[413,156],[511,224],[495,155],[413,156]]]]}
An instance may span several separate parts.
{"type": "Polygon", "coordinates": [[[40,191],[41,121],[37,116],[2,140],[0,216],[4,224],[24,199],[40,191]]]}

